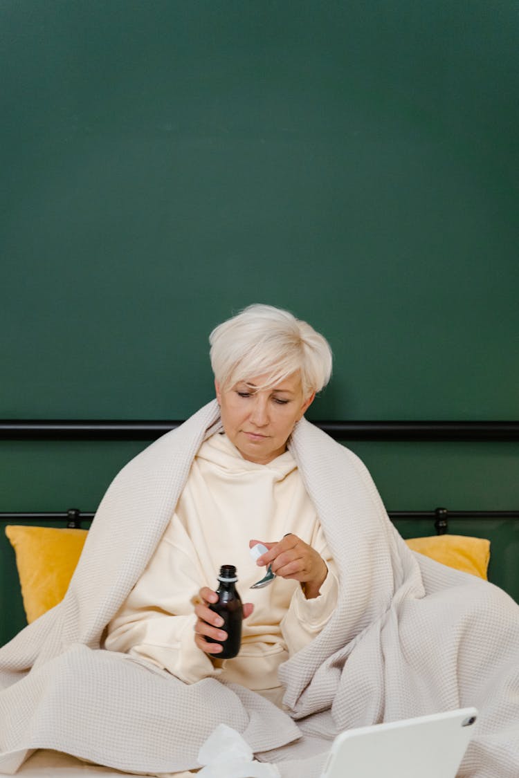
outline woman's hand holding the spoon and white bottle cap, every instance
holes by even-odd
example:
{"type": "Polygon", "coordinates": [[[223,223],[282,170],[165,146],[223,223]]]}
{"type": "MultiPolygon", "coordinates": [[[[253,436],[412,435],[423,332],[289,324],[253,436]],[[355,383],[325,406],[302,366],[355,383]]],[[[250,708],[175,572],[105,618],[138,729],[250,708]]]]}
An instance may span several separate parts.
{"type": "Polygon", "coordinates": [[[317,551],[295,534],[286,534],[277,543],[251,540],[252,548],[256,543],[263,543],[268,553],[260,556],[256,564],[264,567],[272,566],[272,572],[280,578],[299,581],[307,600],[316,598],[324,579],[328,575],[328,567],[317,551]]]}

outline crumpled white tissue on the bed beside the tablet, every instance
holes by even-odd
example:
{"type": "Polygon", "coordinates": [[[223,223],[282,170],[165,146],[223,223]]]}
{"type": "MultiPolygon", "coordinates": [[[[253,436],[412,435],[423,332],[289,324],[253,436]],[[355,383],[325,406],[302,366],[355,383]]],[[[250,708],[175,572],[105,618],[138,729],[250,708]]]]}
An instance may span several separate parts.
{"type": "Polygon", "coordinates": [[[202,744],[198,762],[204,765],[197,773],[200,778],[279,778],[275,765],[252,759],[251,747],[240,733],[219,724],[202,744]]]}

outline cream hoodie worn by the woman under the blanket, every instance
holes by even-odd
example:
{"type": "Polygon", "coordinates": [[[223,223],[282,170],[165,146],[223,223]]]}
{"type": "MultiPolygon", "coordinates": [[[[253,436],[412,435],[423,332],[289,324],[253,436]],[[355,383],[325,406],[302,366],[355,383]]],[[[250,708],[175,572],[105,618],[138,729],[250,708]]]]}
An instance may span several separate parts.
{"type": "Polygon", "coordinates": [[[104,647],[141,658],[186,683],[218,676],[279,702],[279,664],[324,627],[337,599],[335,564],[292,454],[269,464],[245,460],[223,433],[198,450],[177,510],[145,572],[108,626],[104,647]],[[304,597],[296,581],[265,574],[249,541],[279,541],[293,532],[323,557],[328,576],[321,594],[304,597]],[[254,603],[244,620],[240,654],[218,660],[195,645],[193,602],[202,586],[216,589],[223,564],[237,567],[242,601],[254,603]],[[270,692],[268,691],[270,690],[270,692]]]}

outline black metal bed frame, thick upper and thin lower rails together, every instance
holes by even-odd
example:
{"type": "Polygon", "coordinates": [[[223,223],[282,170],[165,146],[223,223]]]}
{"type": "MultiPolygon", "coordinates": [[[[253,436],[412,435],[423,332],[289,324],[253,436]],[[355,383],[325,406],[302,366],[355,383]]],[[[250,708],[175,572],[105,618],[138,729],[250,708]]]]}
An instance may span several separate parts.
{"type": "MultiPolygon", "coordinates": [[[[155,440],[181,425],[181,421],[0,421],[0,439],[9,440],[155,440]]],[[[514,441],[519,440],[519,422],[342,422],[314,421],[335,440],[380,441],[514,441]]],[[[519,519],[519,510],[395,510],[391,520],[434,520],[437,534],[446,534],[449,519],[519,519]]],[[[93,512],[69,508],[61,513],[0,513],[0,521],[65,521],[77,529],[92,520],[93,512]]]]}

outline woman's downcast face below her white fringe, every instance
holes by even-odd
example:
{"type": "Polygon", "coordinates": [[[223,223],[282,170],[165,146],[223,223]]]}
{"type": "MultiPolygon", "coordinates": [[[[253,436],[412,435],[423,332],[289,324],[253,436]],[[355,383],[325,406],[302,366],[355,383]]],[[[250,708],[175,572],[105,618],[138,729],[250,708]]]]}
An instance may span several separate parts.
{"type": "Polygon", "coordinates": [[[276,384],[272,389],[255,390],[265,384],[268,376],[239,381],[226,391],[220,391],[215,381],[223,429],[244,459],[268,464],[286,450],[286,441],[314,400],[303,397],[300,373],[276,384]]]}

